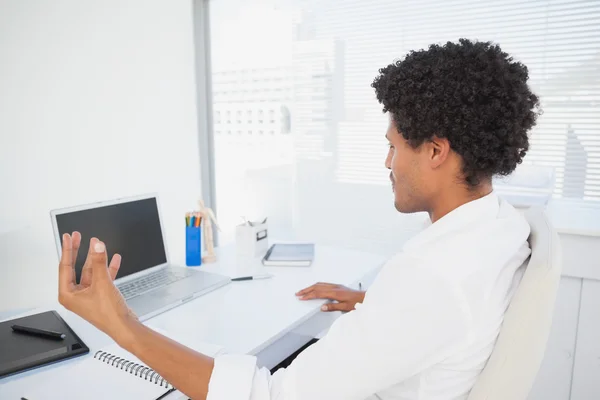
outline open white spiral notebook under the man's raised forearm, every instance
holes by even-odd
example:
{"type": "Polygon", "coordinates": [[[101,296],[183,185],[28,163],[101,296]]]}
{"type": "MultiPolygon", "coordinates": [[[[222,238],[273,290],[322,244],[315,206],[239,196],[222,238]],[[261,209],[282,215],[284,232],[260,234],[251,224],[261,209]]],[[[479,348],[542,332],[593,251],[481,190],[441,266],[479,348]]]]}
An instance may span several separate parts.
{"type": "MultiPolygon", "coordinates": [[[[203,344],[198,351],[211,357],[224,349],[203,344]]],[[[118,345],[90,354],[88,358],[61,373],[68,382],[49,379],[23,397],[27,400],[171,400],[181,398],[162,376],[118,345]]],[[[185,397],[187,398],[187,397],[185,397]]]]}

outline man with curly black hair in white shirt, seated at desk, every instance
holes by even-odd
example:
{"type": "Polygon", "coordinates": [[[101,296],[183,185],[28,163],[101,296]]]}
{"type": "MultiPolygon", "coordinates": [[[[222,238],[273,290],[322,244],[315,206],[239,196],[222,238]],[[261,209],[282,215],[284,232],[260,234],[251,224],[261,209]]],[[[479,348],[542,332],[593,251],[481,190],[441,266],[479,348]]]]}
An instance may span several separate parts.
{"type": "Polygon", "coordinates": [[[491,184],[528,149],[538,99],[527,79],[498,46],[468,40],[379,71],[372,86],[389,115],[395,206],[429,213],[431,225],[388,261],[364,299],[324,285],[300,292],[356,310],[272,376],[254,357],[212,359],[139,323],[112,283],[120,257],[106,268],[97,239],[76,284],[77,232],[63,237],[60,302],[193,399],[466,399],[530,254],[529,226],[491,184]]]}

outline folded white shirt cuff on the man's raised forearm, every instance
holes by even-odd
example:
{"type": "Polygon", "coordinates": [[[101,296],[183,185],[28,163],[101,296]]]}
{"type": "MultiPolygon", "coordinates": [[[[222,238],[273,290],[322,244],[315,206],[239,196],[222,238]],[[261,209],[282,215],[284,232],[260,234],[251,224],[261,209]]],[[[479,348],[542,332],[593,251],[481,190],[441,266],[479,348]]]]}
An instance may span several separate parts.
{"type": "Polygon", "coordinates": [[[206,400],[248,400],[252,393],[256,357],[222,355],[215,358],[206,400]]]}

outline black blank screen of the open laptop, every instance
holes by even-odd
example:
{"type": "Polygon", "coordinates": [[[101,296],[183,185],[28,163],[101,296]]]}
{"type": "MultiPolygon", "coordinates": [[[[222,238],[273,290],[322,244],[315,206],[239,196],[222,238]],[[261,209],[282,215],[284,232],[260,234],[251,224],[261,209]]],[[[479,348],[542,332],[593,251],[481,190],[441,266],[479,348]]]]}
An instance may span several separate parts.
{"type": "Polygon", "coordinates": [[[81,247],[75,264],[77,282],[92,237],[106,244],[109,262],[115,253],[122,256],[117,278],[167,262],[154,197],[59,214],[56,215],[56,225],[61,244],[64,233],[81,233],[81,247]]]}

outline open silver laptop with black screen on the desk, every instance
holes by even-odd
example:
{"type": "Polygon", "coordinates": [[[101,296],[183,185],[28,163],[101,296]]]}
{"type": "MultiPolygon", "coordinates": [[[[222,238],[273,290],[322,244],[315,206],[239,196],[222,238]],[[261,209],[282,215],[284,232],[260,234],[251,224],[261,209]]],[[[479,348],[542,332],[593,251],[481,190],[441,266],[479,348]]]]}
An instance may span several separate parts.
{"type": "Polygon", "coordinates": [[[122,256],[115,285],[142,321],[231,281],[219,274],[171,265],[156,194],[52,210],[50,215],[59,258],[62,235],[81,233],[77,282],[92,237],[106,244],[109,261],[115,253],[122,256]]]}

